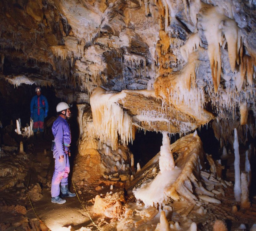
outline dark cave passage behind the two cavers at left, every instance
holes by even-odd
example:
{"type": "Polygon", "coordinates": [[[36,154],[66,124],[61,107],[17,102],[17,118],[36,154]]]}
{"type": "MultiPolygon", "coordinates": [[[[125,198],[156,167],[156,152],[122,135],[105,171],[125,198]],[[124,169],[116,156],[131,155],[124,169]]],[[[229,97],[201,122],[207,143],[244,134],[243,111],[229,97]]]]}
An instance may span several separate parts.
{"type": "MultiPolygon", "coordinates": [[[[0,105],[2,110],[0,110],[0,121],[2,122],[2,127],[10,125],[12,120],[14,126],[16,120],[21,119],[22,127],[26,127],[26,124],[30,123],[30,102],[32,97],[35,95],[35,87],[37,85],[32,84],[21,84],[18,87],[0,80],[0,105]]],[[[56,92],[54,87],[42,87],[41,94],[47,98],[49,111],[47,117],[44,119],[45,122],[45,137],[47,140],[52,139],[51,125],[54,121],[53,117],[56,117],[56,105],[65,99],[60,99],[56,97],[56,92]],[[49,120],[49,123],[47,121],[49,120]],[[47,127],[47,125],[49,127],[47,127]],[[51,137],[51,138],[50,138],[51,137]]],[[[77,108],[76,104],[73,104],[71,109],[72,117],[68,120],[70,124],[70,129],[72,133],[72,149],[73,153],[76,153],[77,150],[77,140],[79,136],[79,126],[77,124],[77,108]]],[[[3,143],[3,129],[0,129],[1,132],[1,143],[3,143]]]]}

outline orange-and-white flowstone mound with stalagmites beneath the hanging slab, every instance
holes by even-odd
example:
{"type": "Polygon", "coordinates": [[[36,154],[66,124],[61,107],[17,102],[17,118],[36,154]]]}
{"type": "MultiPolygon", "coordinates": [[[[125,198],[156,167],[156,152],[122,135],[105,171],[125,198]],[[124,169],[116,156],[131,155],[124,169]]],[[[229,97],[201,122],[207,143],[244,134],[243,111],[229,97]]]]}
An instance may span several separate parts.
{"type": "MultiPolygon", "coordinates": [[[[172,145],[164,133],[163,146],[155,161],[158,160],[160,172],[156,175],[156,169],[151,169],[154,172],[153,179],[133,189],[134,196],[141,201],[138,201],[137,209],[133,210],[126,203],[127,196],[124,197],[123,192],[113,194],[111,191],[106,195],[96,196],[94,211],[107,217],[118,218],[121,222],[118,224],[118,230],[129,230],[129,227],[138,230],[179,230],[181,228],[178,223],[168,223],[166,214],[175,212],[182,217],[188,217],[193,212],[203,215],[207,213],[203,205],[220,204],[221,201],[215,197],[225,196],[223,188],[232,185],[220,178],[222,166],[211,156],[204,154],[202,142],[196,133],[185,136],[172,145]],[[172,152],[178,153],[175,161],[172,152]],[[208,171],[204,166],[205,159],[210,166],[208,171]],[[156,225],[159,219],[157,214],[161,210],[165,212],[161,213],[160,223],[156,225]]],[[[139,175],[146,170],[148,169],[142,168],[139,175]]],[[[130,182],[130,185],[132,184],[133,181],[130,182]]],[[[132,195],[131,191],[128,192],[128,197],[129,195],[132,195]]],[[[188,230],[196,230],[195,223],[187,223],[184,227],[189,226],[188,230]]],[[[186,230],[184,227],[182,230],[186,230]]]]}

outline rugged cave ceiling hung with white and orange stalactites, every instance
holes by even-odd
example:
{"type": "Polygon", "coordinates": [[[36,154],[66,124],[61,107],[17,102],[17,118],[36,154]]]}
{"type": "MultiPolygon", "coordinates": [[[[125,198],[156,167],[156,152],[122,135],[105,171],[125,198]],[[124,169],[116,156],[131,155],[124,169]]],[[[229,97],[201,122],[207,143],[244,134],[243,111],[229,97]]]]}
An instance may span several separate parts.
{"type": "Polygon", "coordinates": [[[0,77],[15,86],[77,103],[99,86],[125,90],[116,103],[155,131],[256,115],[254,1],[2,0],[0,11],[0,77]],[[145,108],[170,112],[149,123],[145,108]]]}

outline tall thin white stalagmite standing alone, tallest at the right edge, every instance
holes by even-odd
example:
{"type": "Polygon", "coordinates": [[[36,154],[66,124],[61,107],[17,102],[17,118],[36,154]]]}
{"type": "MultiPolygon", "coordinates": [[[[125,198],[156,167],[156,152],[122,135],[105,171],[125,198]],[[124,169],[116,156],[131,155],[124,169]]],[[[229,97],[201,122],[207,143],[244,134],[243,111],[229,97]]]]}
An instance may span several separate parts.
{"type": "Polygon", "coordinates": [[[239,155],[239,144],[237,138],[237,129],[234,129],[234,152],[235,152],[235,184],[234,184],[234,196],[237,202],[241,201],[241,176],[240,176],[240,155],[239,155]]]}

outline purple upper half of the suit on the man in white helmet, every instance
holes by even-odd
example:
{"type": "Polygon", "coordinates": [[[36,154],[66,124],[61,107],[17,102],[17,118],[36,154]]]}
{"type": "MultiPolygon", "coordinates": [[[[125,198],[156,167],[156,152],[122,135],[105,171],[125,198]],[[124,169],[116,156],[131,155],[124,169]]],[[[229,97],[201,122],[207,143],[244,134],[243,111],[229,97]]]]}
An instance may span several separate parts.
{"type": "Polygon", "coordinates": [[[52,134],[55,144],[53,146],[53,157],[62,156],[69,151],[71,143],[70,128],[67,120],[59,116],[52,125],[52,134]]]}

